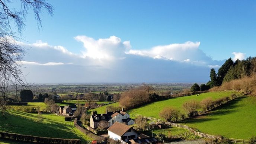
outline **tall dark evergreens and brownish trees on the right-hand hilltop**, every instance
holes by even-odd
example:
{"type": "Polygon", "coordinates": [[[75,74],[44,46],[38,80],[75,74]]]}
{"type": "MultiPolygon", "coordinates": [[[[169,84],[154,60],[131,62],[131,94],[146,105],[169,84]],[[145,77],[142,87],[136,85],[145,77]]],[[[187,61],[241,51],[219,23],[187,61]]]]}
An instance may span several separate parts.
{"type": "Polygon", "coordinates": [[[219,68],[218,73],[212,68],[210,71],[210,78],[207,84],[209,86],[220,86],[224,82],[234,79],[240,79],[256,74],[256,57],[248,57],[246,60],[236,60],[235,62],[229,58],[219,68]]]}

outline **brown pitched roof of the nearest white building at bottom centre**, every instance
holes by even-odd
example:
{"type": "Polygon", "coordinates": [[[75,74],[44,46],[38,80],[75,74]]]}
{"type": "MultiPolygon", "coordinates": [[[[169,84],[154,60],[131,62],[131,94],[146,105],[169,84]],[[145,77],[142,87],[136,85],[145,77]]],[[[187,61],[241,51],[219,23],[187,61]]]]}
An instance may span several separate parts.
{"type": "Polygon", "coordinates": [[[116,135],[122,137],[131,127],[128,125],[122,124],[120,122],[115,122],[111,127],[108,128],[108,131],[113,132],[116,135]]]}

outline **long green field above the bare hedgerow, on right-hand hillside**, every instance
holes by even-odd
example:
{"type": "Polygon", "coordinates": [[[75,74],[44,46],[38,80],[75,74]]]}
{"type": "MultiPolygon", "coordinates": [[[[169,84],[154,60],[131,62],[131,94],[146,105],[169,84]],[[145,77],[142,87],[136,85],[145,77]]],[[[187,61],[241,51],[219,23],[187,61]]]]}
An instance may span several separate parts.
{"type": "MultiPolygon", "coordinates": [[[[207,97],[212,97],[212,99],[218,99],[220,97],[230,96],[231,93],[234,92],[210,92],[210,93],[202,93],[199,96],[183,96],[183,97],[175,97],[172,99],[161,100],[158,102],[153,102],[147,105],[143,105],[139,108],[128,110],[127,113],[132,116],[134,113],[138,113],[140,115],[163,119],[159,116],[159,112],[165,107],[174,107],[179,109],[180,112],[185,113],[183,111],[182,105],[188,100],[195,99],[197,101],[202,101],[207,97]]],[[[97,110],[96,110],[97,111],[97,110]]]]}

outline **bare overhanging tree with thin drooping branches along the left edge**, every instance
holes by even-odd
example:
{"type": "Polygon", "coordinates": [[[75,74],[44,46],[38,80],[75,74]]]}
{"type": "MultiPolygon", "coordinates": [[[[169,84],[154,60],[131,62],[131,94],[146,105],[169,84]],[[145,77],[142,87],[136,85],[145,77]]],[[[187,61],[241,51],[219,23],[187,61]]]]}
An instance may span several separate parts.
{"type": "Polygon", "coordinates": [[[0,0],[0,108],[3,115],[6,113],[9,92],[13,90],[18,97],[19,91],[29,86],[19,63],[25,51],[16,43],[22,37],[25,17],[32,9],[40,29],[42,28],[40,17],[42,10],[46,10],[49,15],[54,11],[45,0],[20,0],[20,9],[9,7],[12,2],[13,0],[0,0]]]}

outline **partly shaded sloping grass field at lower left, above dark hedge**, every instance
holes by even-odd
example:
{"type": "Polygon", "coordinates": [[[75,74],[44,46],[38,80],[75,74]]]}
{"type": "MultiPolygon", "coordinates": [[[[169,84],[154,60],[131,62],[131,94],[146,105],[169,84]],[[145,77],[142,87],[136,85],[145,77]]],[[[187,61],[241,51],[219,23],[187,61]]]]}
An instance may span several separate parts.
{"type": "Polygon", "coordinates": [[[92,140],[84,135],[73,122],[66,122],[63,116],[9,110],[6,117],[0,116],[0,131],[40,137],[78,138],[92,140]]]}

